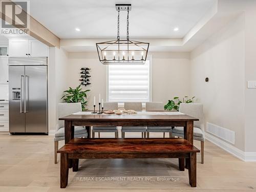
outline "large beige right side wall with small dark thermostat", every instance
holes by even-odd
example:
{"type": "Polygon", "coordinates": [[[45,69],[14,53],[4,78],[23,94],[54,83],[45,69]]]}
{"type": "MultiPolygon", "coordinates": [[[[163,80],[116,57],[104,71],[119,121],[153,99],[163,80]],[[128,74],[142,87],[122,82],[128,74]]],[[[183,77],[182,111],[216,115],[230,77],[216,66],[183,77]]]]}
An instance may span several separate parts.
{"type": "Polygon", "coordinates": [[[191,52],[190,90],[204,104],[206,122],[236,132],[235,146],[244,151],[245,126],[244,15],[191,52]],[[209,82],[205,82],[209,77],[209,82]]]}

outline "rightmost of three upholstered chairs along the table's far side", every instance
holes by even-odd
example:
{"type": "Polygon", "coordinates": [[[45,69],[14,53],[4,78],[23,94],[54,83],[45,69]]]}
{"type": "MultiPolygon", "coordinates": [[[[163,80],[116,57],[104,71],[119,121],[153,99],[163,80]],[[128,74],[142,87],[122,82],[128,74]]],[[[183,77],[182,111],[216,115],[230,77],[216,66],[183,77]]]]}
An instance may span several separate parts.
{"type": "MultiPolygon", "coordinates": [[[[164,104],[162,102],[146,102],[146,111],[164,110],[163,106],[164,104]]],[[[163,138],[165,137],[165,133],[169,133],[169,138],[172,137],[171,126],[147,126],[147,138],[150,138],[150,132],[163,133],[163,138]]]]}

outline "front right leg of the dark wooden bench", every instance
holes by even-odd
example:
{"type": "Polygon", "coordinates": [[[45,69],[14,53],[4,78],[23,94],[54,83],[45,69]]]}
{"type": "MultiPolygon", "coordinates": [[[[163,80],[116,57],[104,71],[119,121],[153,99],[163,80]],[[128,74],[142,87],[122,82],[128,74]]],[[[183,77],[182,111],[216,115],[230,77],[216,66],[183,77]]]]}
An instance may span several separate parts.
{"type": "Polygon", "coordinates": [[[191,187],[197,186],[197,154],[190,153],[190,158],[187,161],[188,166],[188,177],[189,177],[189,184],[191,187]]]}

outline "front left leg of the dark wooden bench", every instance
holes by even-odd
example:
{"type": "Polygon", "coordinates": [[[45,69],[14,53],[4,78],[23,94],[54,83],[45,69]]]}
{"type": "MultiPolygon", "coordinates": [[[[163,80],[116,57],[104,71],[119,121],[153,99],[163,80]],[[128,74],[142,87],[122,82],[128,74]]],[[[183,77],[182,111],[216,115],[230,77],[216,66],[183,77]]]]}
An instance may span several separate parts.
{"type": "Polygon", "coordinates": [[[69,180],[68,155],[60,154],[60,188],[66,188],[69,180]]]}

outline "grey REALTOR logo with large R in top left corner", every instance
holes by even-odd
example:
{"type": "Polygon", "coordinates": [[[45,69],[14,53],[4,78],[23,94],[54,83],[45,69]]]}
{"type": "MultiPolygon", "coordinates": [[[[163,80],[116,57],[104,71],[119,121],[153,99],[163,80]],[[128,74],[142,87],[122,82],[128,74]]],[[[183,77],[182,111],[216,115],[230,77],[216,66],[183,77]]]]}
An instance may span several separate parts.
{"type": "Polygon", "coordinates": [[[29,1],[1,1],[1,34],[25,34],[29,28],[29,1]]]}

